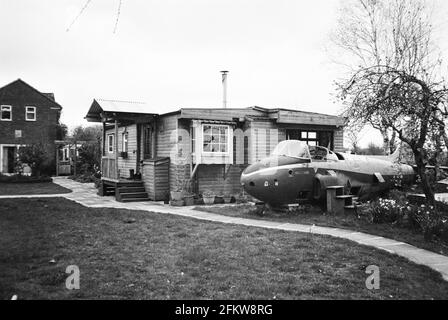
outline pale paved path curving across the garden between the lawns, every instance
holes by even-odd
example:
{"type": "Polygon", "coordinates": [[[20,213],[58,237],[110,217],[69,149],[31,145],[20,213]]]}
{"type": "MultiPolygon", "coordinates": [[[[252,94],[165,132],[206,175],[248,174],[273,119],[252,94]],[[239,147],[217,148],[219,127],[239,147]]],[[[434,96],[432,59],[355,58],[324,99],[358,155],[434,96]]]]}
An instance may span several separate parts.
{"type": "MultiPolygon", "coordinates": [[[[361,245],[371,246],[377,249],[387,251],[392,254],[397,254],[417,264],[428,266],[431,269],[440,272],[443,278],[446,281],[448,281],[447,256],[419,249],[404,242],[399,242],[379,236],[373,236],[366,233],[353,232],[350,230],[337,229],[337,228],[316,227],[302,224],[228,217],[214,213],[196,211],[188,207],[171,207],[169,205],[164,205],[163,203],[154,203],[154,202],[120,203],[115,201],[114,197],[98,196],[96,194],[97,190],[91,183],[82,184],[62,177],[54,178],[53,181],[54,183],[59,184],[64,188],[73,190],[73,192],[58,195],[45,195],[45,197],[63,197],[69,200],[73,200],[83,206],[92,208],[107,207],[107,208],[119,208],[129,210],[151,211],[151,212],[172,214],[220,223],[229,223],[229,224],[292,231],[292,232],[313,233],[319,235],[328,235],[342,239],[348,239],[361,245]]],[[[6,197],[10,196],[5,196],[5,198],[6,197]]],[[[27,196],[17,196],[17,197],[24,198],[27,196]]],[[[43,196],[36,195],[28,197],[41,198],[43,196]]]]}

